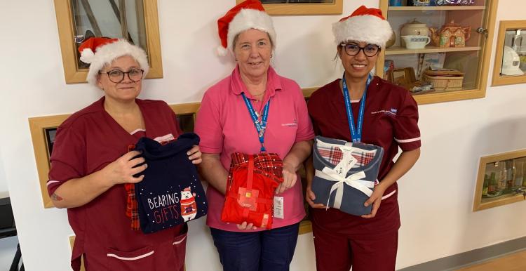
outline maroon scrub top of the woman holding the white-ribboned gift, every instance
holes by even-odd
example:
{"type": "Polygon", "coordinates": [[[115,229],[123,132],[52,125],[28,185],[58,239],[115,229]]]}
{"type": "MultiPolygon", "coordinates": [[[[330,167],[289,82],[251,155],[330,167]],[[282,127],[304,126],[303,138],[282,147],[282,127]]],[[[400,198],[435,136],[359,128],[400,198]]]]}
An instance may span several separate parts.
{"type": "MultiPolygon", "coordinates": [[[[316,135],[339,140],[351,140],[349,123],[345,110],[344,95],[339,86],[340,79],[319,88],[312,93],[307,107],[316,135]]],[[[360,100],[351,101],[356,125],[360,100]]],[[[403,151],[420,147],[420,130],[418,127],[418,106],[409,91],[395,86],[389,81],[374,77],[367,89],[365,111],[363,116],[362,142],[384,148],[384,157],[378,174],[378,180],[387,175],[393,166],[393,158],[398,154],[398,147],[403,151]]],[[[313,223],[320,223],[328,229],[348,229],[349,235],[363,236],[394,232],[400,227],[398,212],[398,185],[394,183],[386,189],[382,205],[375,218],[340,215],[335,209],[313,209],[313,223]]]]}

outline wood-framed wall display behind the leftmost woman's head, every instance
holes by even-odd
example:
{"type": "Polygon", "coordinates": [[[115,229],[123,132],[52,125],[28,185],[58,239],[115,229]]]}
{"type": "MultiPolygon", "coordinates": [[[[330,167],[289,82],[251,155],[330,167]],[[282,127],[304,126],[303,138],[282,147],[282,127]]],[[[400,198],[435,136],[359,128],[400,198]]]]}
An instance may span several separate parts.
{"type": "Polygon", "coordinates": [[[67,84],[86,81],[88,65],[77,51],[90,37],[127,39],[148,55],[146,78],[162,78],[156,0],[55,0],[58,36],[67,84]]]}

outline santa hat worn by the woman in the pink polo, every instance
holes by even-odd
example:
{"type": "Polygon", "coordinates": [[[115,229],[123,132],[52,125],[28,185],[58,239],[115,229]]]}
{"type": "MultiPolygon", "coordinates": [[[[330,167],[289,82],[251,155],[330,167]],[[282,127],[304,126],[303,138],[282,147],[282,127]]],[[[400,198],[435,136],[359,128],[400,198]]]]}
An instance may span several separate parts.
{"type": "Polygon", "coordinates": [[[217,48],[217,53],[224,56],[227,55],[229,49],[234,51],[234,37],[248,29],[267,32],[272,44],[276,46],[276,31],[274,31],[272,19],[265,12],[261,2],[246,0],[234,6],[217,20],[217,32],[219,32],[222,45],[217,48]]]}

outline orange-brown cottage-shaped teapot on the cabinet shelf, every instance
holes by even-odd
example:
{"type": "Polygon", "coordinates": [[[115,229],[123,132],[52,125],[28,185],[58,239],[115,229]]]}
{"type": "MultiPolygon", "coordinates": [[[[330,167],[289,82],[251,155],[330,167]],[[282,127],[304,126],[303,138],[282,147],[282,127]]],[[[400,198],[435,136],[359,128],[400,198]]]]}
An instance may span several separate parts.
{"type": "Polygon", "coordinates": [[[430,27],[429,32],[433,44],[439,47],[464,47],[471,37],[471,27],[457,25],[454,20],[443,25],[440,30],[430,27]]]}

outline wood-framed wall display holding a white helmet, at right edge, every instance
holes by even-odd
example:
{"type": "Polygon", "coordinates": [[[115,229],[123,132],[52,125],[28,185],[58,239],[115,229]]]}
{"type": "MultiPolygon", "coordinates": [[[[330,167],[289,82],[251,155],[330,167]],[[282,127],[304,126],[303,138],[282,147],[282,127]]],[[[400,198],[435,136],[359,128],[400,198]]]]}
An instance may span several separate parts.
{"type": "Polygon", "coordinates": [[[492,86],[526,83],[526,20],[501,20],[492,86]]]}

